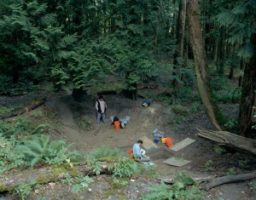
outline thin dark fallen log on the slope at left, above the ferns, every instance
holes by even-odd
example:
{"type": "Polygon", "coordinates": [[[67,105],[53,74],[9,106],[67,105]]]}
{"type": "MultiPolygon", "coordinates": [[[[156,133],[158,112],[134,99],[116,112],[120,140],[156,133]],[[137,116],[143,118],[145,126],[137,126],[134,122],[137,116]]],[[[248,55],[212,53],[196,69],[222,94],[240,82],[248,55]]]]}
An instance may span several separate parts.
{"type": "Polygon", "coordinates": [[[25,106],[24,108],[18,110],[18,111],[13,111],[7,115],[4,115],[4,116],[0,116],[0,119],[6,119],[6,118],[10,118],[10,117],[15,117],[15,116],[18,116],[18,115],[21,115],[23,114],[24,112],[26,111],[32,111],[34,109],[36,109],[38,106],[41,106],[44,104],[46,98],[43,98],[41,100],[34,100],[32,101],[31,104],[25,106]]]}

